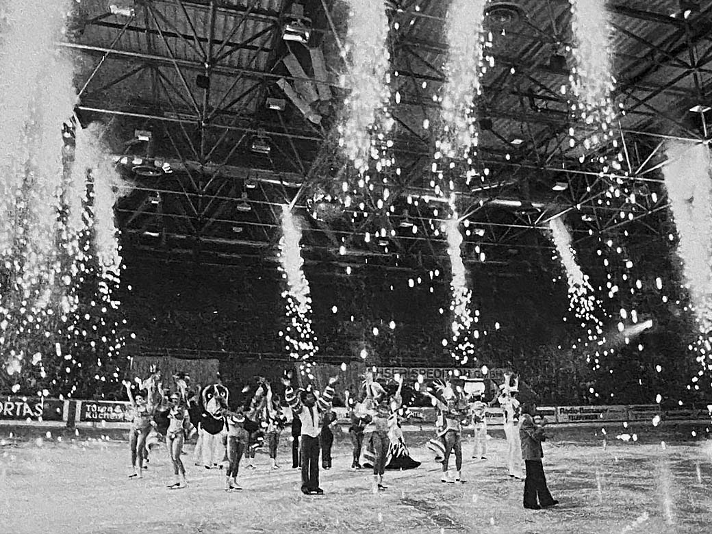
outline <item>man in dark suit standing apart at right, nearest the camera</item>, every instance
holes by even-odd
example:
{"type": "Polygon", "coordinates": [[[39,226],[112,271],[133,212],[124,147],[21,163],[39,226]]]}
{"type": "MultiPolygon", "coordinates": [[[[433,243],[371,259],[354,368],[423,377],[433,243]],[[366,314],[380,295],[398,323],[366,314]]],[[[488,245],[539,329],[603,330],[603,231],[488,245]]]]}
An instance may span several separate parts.
{"type": "Polygon", "coordinates": [[[541,459],[544,453],[541,449],[541,442],[546,440],[543,421],[541,424],[534,422],[536,415],[536,403],[528,402],[523,405],[522,416],[519,421],[519,437],[522,442],[522,458],[526,466],[526,478],[524,480],[524,508],[530,510],[540,510],[555,506],[559,501],[555,501],[546,486],[544,467],[541,459]],[[538,502],[537,502],[538,499],[538,502]]]}

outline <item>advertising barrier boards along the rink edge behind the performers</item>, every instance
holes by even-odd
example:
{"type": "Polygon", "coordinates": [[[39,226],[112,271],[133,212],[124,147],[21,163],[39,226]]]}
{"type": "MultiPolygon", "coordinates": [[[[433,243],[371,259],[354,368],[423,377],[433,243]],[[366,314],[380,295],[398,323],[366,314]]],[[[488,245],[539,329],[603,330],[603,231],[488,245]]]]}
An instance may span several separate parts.
{"type": "MultiPolygon", "coordinates": [[[[335,407],[336,423],[350,424],[347,409],[335,407]]],[[[431,427],[436,419],[433,407],[408,409],[404,426],[431,427]]],[[[709,421],[705,408],[686,408],[662,411],[659,404],[615,406],[557,406],[538,407],[538,414],[552,424],[583,424],[603,422],[652,422],[658,416],[669,421],[709,421]]],[[[487,408],[486,421],[491,426],[503,424],[501,408],[487,408]]],[[[0,424],[57,424],[94,428],[127,428],[132,420],[130,403],[126,401],[94,401],[50,399],[38,397],[0,397],[0,424]],[[69,413],[73,414],[71,420],[69,413]]]]}

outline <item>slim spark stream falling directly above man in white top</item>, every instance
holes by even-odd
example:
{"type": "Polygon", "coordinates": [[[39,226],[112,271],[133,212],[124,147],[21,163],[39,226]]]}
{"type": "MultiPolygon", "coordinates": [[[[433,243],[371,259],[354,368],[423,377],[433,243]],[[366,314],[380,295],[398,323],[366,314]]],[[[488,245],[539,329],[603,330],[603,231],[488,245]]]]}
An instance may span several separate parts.
{"type": "MultiPolygon", "coordinates": [[[[287,282],[287,288],[282,293],[286,299],[287,316],[284,338],[287,343],[286,350],[291,357],[308,360],[315,355],[318,347],[315,345],[317,339],[312,330],[312,300],[309,282],[303,271],[304,260],[299,246],[301,239],[302,230],[298,221],[289,206],[283,206],[279,264],[287,282]]],[[[310,364],[306,365],[308,372],[310,364]]]]}

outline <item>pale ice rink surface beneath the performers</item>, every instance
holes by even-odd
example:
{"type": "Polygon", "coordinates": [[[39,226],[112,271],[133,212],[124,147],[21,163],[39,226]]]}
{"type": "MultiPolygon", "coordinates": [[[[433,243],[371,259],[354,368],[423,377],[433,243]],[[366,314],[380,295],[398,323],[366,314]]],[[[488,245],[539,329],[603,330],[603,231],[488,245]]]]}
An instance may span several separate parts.
{"type": "Polygon", "coordinates": [[[424,463],[387,471],[388,489],[378,494],[369,472],[348,468],[342,436],[334,468],[321,471],[325,495],[303,496],[288,432],[281,469],[271,471],[258,452],[256,469],[241,473],[244,489],[226,493],[224,471],[194,466],[192,445],[184,449],[189,486],[172,491],[165,449],[152,452],[145,478],[130,480],[125,443],[71,434],[61,442],[16,440],[0,428],[0,533],[712,533],[712,441],[658,433],[623,442],[609,432],[604,447],[594,432],[555,432],[544,466],[560,505],[527,511],[497,431],[487,461],[471,459],[466,444],[462,485],[439,481],[440,466],[422,446],[429,435],[407,434],[412,456],[424,463]]]}

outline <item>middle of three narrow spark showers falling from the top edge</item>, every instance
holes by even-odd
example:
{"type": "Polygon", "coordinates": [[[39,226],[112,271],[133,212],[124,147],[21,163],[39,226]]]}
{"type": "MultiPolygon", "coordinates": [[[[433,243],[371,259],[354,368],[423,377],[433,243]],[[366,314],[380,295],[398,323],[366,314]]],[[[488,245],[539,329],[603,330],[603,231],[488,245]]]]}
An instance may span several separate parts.
{"type": "Polygon", "coordinates": [[[447,11],[447,80],[441,115],[445,139],[440,150],[449,158],[466,157],[477,146],[473,101],[481,90],[484,5],[484,0],[453,0],[447,11]]]}

